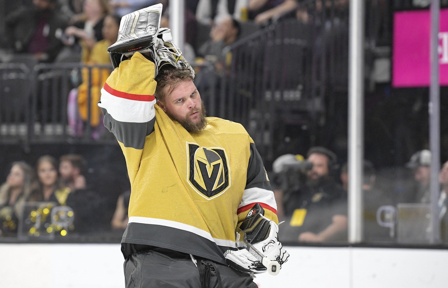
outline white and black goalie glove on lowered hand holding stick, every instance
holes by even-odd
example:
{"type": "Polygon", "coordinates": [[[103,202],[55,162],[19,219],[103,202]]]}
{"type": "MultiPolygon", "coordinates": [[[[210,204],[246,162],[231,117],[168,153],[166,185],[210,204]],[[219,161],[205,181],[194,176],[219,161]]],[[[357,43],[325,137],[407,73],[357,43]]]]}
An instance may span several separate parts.
{"type": "MultiPolygon", "coordinates": [[[[252,244],[269,260],[277,261],[280,267],[288,260],[289,253],[278,241],[278,225],[264,216],[264,210],[258,203],[250,209],[240,229],[246,235],[246,242],[252,244]]],[[[241,247],[238,236],[237,247],[236,251],[227,250],[224,253],[224,258],[230,267],[248,274],[267,271],[267,268],[248,249],[241,247]]]]}

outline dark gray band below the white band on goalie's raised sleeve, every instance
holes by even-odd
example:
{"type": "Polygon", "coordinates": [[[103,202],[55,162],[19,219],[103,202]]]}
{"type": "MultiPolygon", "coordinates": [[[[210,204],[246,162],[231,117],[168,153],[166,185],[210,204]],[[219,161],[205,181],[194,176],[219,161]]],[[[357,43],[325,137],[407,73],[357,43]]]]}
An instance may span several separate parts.
{"type": "Polygon", "coordinates": [[[155,117],[145,123],[121,122],[113,119],[105,108],[101,108],[101,111],[104,114],[104,126],[125,147],[143,149],[146,136],[154,131],[155,117]]]}

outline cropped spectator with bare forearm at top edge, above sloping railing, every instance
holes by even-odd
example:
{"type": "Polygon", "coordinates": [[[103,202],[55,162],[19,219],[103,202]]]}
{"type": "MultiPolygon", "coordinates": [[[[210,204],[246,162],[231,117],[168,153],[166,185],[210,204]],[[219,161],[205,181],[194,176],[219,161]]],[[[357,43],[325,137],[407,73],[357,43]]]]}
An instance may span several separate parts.
{"type": "Polygon", "coordinates": [[[249,19],[264,24],[273,17],[295,11],[298,0],[249,0],[249,19]]]}

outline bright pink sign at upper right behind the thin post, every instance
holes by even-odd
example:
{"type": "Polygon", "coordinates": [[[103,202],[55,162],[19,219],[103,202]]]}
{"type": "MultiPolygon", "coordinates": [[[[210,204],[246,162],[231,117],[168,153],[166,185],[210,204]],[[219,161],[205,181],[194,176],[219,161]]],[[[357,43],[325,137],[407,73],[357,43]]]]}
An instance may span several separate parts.
{"type": "MultiPolygon", "coordinates": [[[[393,28],[392,86],[429,86],[430,11],[396,12],[393,28]]],[[[448,9],[440,10],[439,65],[440,85],[448,86],[448,9]]]]}

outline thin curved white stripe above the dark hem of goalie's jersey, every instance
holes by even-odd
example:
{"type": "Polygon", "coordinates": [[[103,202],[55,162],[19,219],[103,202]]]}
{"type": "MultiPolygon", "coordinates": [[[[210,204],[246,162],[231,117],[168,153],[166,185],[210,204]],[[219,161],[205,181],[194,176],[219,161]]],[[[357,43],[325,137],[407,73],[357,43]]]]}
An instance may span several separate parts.
{"type": "Polygon", "coordinates": [[[207,232],[207,231],[204,231],[202,229],[196,228],[196,227],[191,226],[191,225],[179,223],[179,222],[176,222],[176,221],[165,220],[165,219],[157,219],[157,218],[132,216],[132,217],[129,217],[129,222],[128,223],[153,224],[153,225],[161,225],[161,226],[176,228],[176,229],[192,232],[192,233],[194,233],[194,234],[196,234],[198,236],[204,237],[204,238],[206,238],[206,239],[208,239],[208,240],[210,240],[212,242],[215,242],[216,245],[219,245],[219,246],[232,247],[232,248],[236,248],[237,247],[235,241],[213,238],[211,236],[211,234],[209,232],[207,232]]]}

